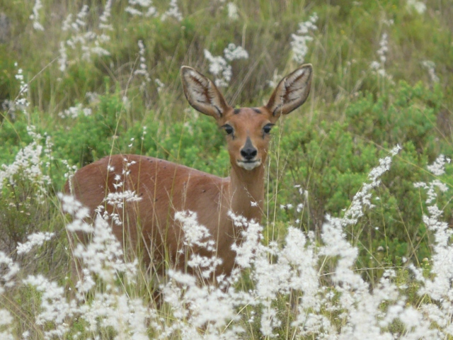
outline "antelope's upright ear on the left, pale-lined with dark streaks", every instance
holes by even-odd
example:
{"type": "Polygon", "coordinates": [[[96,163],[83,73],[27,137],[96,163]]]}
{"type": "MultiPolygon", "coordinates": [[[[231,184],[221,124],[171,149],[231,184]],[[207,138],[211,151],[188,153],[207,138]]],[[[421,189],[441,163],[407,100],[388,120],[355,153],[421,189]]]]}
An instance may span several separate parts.
{"type": "Polygon", "coordinates": [[[214,83],[192,67],[181,67],[185,98],[195,110],[218,119],[230,108],[214,83]]]}

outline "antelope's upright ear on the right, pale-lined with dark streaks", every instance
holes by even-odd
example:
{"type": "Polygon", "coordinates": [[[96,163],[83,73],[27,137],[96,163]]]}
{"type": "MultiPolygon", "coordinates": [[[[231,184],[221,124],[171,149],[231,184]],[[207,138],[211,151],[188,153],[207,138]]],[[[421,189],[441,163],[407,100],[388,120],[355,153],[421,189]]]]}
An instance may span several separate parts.
{"type": "Polygon", "coordinates": [[[287,115],[304,103],[310,93],[312,73],[311,64],[304,64],[278,83],[266,105],[274,117],[287,115]]]}

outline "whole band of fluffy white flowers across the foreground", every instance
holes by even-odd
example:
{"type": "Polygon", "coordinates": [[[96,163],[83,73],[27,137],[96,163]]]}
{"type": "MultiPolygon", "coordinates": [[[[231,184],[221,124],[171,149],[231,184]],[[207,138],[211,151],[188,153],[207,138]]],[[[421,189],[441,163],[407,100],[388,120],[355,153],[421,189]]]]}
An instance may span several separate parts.
{"type": "MultiPolygon", "coordinates": [[[[35,132],[30,132],[35,133],[35,132]]],[[[36,135],[35,135],[36,136],[36,135]]],[[[143,285],[137,259],[127,261],[122,244],[114,237],[113,224],[122,224],[117,213],[125,202],[140,200],[134,192],[124,190],[124,179],[132,162],[125,159],[125,171],[116,179],[116,192],[105,203],[109,212],[99,209],[92,222],[88,210],[72,196],[59,195],[62,210],[71,215],[66,230],[69,234],[89,235],[84,242],[71,237],[71,256],[79,263],[72,285],[62,285],[42,274],[21,272],[21,266],[0,252],[0,290],[17,290],[17,284],[35,292],[39,302],[33,327],[23,332],[33,336],[37,330],[44,339],[53,337],[86,337],[88,334],[105,339],[237,339],[248,337],[251,329],[261,336],[278,338],[290,331],[299,339],[435,339],[451,336],[449,315],[452,312],[453,259],[452,232],[440,221],[442,211],[435,205],[438,192],[447,186],[438,178],[445,174],[449,159],[440,156],[428,169],[437,176],[430,183],[416,183],[428,193],[428,229],[435,235],[430,276],[413,264],[408,265],[420,289],[429,296],[414,307],[405,295],[406,285],[398,283],[398,271],[385,268],[373,285],[356,271],[357,246],[345,234],[346,227],[355,225],[372,209],[373,191],[380,178],[389,171],[392,158],[379,160],[369,171],[368,180],[355,195],[343,217],[326,217],[321,239],[314,232],[288,227],[282,244],[263,242],[263,227],[232,213],[242,242],[235,244],[236,268],[229,277],[210,280],[222,261],[216,256],[200,256],[192,249],[205,248],[215,253],[215,242],[208,230],[197,222],[193,212],[175,216],[183,228],[183,252],[188,255],[187,273],[168,270],[159,290],[163,305],[156,307],[148,298],[134,293],[133,287],[143,285]],[[331,263],[330,266],[326,266],[331,263]],[[248,280],[244,280],[243,273],[248,280]],[[194,273],[194,275],[190,275],[194,273]],[[67,290],[68,287],[71,291],[67,290]],[[132,289],[132,290],[131,290],[132,289]],[[78,331],[68,320],[78,320],[78,331]],[[30,334],[31,332],[31,334],[30,334]],[[107,335],[110,334],[110,335],[107,335]]],[[[114,169],[109,169],[113,171],[114,169]]],[[[4,177],[8,179],[8,177],[4,177]]],[[[297,187],[304,195],[304,190],[297,187]]],[[[302,206],[285,205],[300,210],[302,206]]],[[[28,254],[55,238],[52,232],[28,234],[16,246],[18,254],[28,254]]],[[[406,271],[407,269],[401,269],[406,271]]],[[[4,315],[4,334],[13,334],[18,320],[8,309],[4,315]]],[[[30,325],[31,325],[30,324],[30,325]]]]}

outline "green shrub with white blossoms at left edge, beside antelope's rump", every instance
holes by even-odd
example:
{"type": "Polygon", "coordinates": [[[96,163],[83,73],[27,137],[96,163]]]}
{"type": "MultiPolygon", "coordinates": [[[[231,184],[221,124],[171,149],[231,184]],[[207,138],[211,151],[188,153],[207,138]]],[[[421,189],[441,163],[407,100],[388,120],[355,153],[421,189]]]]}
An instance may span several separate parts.
{"type": "Polygon", "coordinates": [[[28,127],[28,136],[31,142],[17,152],[13,162],[0,166],[0,251],[23,271],[37,273],[62,260],[52,254],[59,249],[57,233],[47,231],[53,223],[48,198],[56,162],[50,136],[42,136],[33,126],[28,127]]]}

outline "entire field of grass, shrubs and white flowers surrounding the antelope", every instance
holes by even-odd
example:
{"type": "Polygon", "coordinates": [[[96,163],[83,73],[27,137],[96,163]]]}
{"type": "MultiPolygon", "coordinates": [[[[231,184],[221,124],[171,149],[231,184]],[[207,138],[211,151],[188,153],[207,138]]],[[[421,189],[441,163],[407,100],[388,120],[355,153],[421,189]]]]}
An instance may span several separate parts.
{"type": "MultiPolygon", "coordinates": [[[[0,338],[452,338],[449,1],[2,5],[0,338]],[[88,223],[59,194],[117,152],[227,176],[180,65],[232,106],[259,106],[301,60],[314,64],[309,105],[275,129],[262,224],[231,215],[244,242],[217,285],[155,275],[112,216],[88,223]]],[[[189,248],[215,246],[196,215],[177,218],[189,248]]],[[[206,276],[219,265],[188,256],[206,276]]]]}

